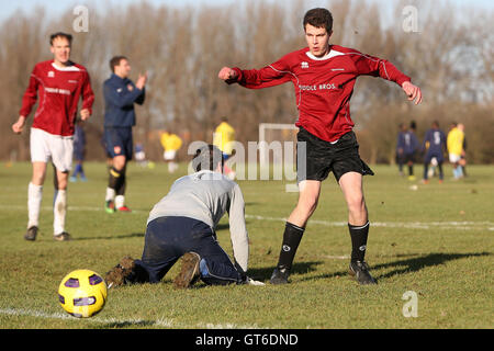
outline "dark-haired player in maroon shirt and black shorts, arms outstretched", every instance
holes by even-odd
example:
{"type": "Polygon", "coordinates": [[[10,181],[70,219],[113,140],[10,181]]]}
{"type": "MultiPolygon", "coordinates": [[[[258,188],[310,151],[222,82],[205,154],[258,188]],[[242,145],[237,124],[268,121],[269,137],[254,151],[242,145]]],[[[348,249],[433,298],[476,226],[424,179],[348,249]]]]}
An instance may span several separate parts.
{"type": "Polygon", "coordinates": [[[218,78],[249,89],[261,89],[291,81],[295,88],[300,127],[297,134],[299,202],[287,220],[272,284],[288,283],[292,262],[314,213],[321,183],[333,171],[348,206],[348,227],[352,250],[349,272],[360,284],[375,284],[364,262],[369,219],[363,197],[362,176],[373,174],[360,159],[350,98],[357,77],[381,77],[397,83],[408,100],[422,101],[420,89],[388,60],[329,44],[333,16],[326,9],[312,9],[304,16],[307,47],[283,56],[261,69],[223,67],[218,78]],[[305,152],[303,151],[305,146],[305,152]],[[301,162],[301,158],[303,162],[301,162]],[[301,167],[302,165],[302,167],[301,167]]]}

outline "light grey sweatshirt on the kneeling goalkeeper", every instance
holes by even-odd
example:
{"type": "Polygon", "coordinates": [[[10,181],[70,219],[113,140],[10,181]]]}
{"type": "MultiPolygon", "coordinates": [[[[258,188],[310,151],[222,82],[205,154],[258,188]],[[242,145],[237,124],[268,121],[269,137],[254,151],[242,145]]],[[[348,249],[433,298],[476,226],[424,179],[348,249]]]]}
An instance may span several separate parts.
{"type": "Polygon", "coordinates": [[[158,217],[182,216],[204,222],[214,231],[225,212],[228,212],[236,265],[245,273],[249,244],[244,196],[240,186],[223,174],[204,170],[179,178],[153,207],[147,223],[158,217]]]}

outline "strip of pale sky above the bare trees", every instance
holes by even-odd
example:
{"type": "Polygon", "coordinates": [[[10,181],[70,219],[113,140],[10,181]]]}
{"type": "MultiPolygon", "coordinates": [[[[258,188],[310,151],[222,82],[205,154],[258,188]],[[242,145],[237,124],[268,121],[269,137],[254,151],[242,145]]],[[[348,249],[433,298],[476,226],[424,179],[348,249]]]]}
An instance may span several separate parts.
{"type": "MultiPolygon", "coordinates": [[[[238,0],[147,0],[149,3],[153,4],[168,4],[173,7],[180,7],[180,5],[187,5],[187,4],[214,4],[214,5],[221,5],[221,4],[231,4],[238,0]]],[[[248,1],[248,0],[247,0],[248,1]]],[[[251,0],[250,0],[251,1],[251,0]]],[[[290,0],[278,0],[283,1],[284,3],[289,4],[290,0]]],[[[392,3],[396,0],[368,0],[373,1],[378,3],[392,3]]],[[[434,1],[440,1],[440,0],[434,0],[434,1]]],[[[494,1],[493,0],[442,0],[447,2],[451,2],[454,4],[458,4],[460,7],[476,7],[481,9],[489,9],[494,10],[494,1]]],[[[52,1],[52,0],[0,0],[0,21],[3,21],[11,16],[13,13],[15,13],[16,10],[22,10],[25,14],[31,14],[33,9],[41,4],[46,10],[47,13],[57,13],[57,12],[64,12],[68,9],[74,9],[77,4],[86,4],[86,3],[108,3],[111,2],[113,4],[128,4],[132,2],[141,2],[141,0],[110,0],[110,1],[96,1],[96,0],[58,0],[58,1],[52,1]]],[[[412,1],[411,1],[412,2],[412,1]]],[[[314,7],[317,5],[324,5],[327,3],[326,0],[310,0],[308,3],[314,7]]]]}

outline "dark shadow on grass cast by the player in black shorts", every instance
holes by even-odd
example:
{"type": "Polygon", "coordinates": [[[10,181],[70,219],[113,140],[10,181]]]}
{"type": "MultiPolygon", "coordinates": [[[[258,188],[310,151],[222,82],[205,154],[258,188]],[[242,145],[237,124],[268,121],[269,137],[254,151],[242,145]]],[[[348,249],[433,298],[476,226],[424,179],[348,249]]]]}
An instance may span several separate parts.
{"type": "MultiPolygon", "coordinates": [[[[492,256],[492,252],[472,252],[472,253],[427,253],[405,260],[398,260],[394,262],[389,263],[381,263],[371,265],[371,272],[372,270],[383,270],[383,269],[393,269],[392,271],[381,274],[381,275],[374,275],[374,278],[379,281],[380,279],[386,279],[391,278],[396,274],[407,274],[420,271],[427,267],[435,267],[439,264],[445,264],[449,261],[454,261],[459,259],[464,258],[471,258],[471,257],[485,257],[485,256],[492,256]]],[[[414,256],[414,254],[412,254],[414,256]]],[[[318,280],[318,279],[328,279],[328,278],[336,278],[341,275],[347,275],[348,271],[339,271],[332,274],[323,274],[317,276],[311,276],[303,279],[303,281],[312,281],[312,280],[318,280]]]]}

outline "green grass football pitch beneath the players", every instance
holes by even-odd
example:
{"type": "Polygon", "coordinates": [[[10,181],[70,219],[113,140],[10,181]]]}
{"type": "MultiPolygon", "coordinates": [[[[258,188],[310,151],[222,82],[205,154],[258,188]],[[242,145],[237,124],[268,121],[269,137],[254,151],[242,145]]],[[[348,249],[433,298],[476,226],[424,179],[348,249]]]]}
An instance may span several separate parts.
{"type": "MultiPolygon", "coordinates": [[[[58,304],[61,279],[76,269],[104,274],[125,254],[139,258],[151,206],[186,165],[170,176],[131,163],[131,214],[103,211],[106,168],[86,163],[89,181],[69,184],[66,229],[74,240],[53,235],[53,185],[44,186],[41,234],[23,239],[31,165],[0,166],[0,328],[493,328],[494,167],[470,166],[469,178],[427,185],[397,176],[395,167],[374,166],[364,178],[370,213],[367,261],[377,286],[349,279],[347,211],[332,176],[323,183],[318,208],[295,257],[291,284],[270,285],[284,220],[297,194],[282,181],[238,181],[246,201],[250,237],[249,275],[266,286],[206,286],[176,291],[173,267],[159,284],[109,291],[104,309],[77,319],[58,304]],[[416,185],[416,186],[414,186],[416,185]],[[405,317],[405,293],[416,296],[416,316],[405,317]]],[[[422,167],[416,167],[416,173],[422,167]]],[[[225,216],[220,244],[232,253],[225,216]]],[[[405,314],[406,315],[406,314],[405,314]]]]}

